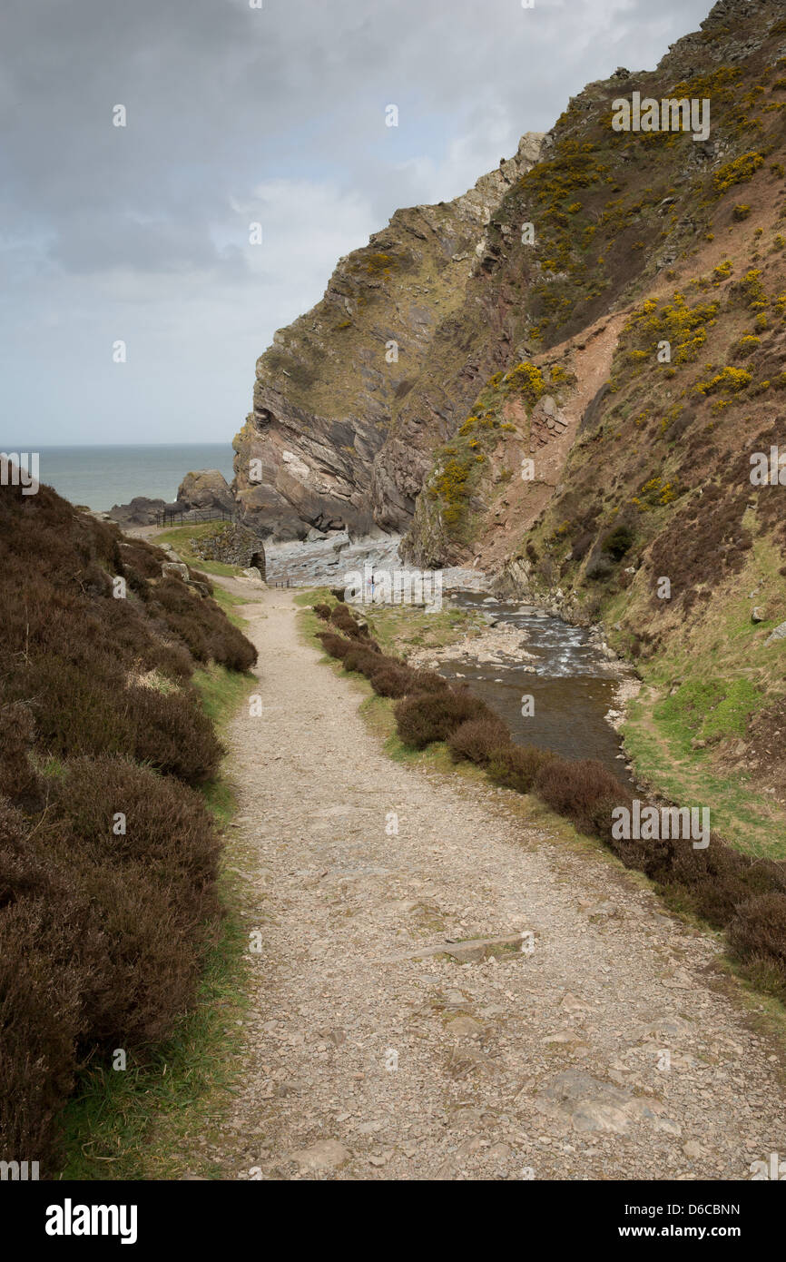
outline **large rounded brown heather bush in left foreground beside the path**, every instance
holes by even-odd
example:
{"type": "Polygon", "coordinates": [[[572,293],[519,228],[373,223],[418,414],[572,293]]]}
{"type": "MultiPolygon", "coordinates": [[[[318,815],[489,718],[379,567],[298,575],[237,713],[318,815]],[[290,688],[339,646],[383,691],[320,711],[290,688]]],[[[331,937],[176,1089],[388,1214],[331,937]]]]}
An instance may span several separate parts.
{"type": "Polygon", "coordinates": [[[218,924],[218,853],[201,796],[127,758],[67,764],[35,827],[0,799],[0,1155],[53,1176],[78,1064],[170,1034],[218,924]]]}

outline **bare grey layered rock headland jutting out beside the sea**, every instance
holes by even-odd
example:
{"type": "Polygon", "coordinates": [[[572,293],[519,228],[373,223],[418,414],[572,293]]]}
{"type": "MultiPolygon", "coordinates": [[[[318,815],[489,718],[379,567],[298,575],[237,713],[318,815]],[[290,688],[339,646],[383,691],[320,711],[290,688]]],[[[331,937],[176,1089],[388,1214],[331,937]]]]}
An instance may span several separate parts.
{"type": "Polygon", "coordinates": [[[453,202],[397,211],[341,259],[324,298],[257,362],[254,411],[235,439],[243,519],[276,539],[401,530],[431,453],[472,394],[462,310],[490,221],[540,136],[453,202]],[[458,376],[445,391],[445,371],[458,376]]]}

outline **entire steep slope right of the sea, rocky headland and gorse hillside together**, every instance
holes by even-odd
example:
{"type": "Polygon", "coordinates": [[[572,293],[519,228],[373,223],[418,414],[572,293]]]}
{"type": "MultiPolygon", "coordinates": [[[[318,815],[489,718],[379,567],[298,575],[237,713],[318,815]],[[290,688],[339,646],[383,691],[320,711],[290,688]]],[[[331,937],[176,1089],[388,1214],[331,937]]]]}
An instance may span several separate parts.
{"type": "Polygon", "coordinates": [[[406,530],[414,564],[603,621],[686,791],[739,771],[781,805],[785,120],[782,0],[719,0],[656,69],[572,98],[537,162],[525,138],[342,260],[237,443],[265,530],[406,530]],[[633,93],[654,129],[614,129],[633,93]]]}

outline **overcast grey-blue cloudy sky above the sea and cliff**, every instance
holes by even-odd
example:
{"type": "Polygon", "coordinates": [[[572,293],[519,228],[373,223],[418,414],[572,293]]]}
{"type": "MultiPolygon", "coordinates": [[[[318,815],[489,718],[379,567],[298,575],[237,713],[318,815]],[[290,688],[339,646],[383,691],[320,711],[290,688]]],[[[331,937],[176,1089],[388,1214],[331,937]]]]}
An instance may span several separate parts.
{"type": "Polygon", "coordinates": [[[3,0],[3,449],[231,440],[256,357],[342,254],[710,8],[261,3],[3,0]]]}

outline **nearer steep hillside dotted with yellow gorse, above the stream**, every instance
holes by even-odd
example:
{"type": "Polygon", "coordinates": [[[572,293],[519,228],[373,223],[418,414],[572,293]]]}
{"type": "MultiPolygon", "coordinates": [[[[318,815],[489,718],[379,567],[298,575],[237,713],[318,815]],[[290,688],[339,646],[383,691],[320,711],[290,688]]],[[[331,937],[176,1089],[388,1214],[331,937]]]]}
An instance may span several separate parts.
{"type": "Polygon", "coordinates": [[[490,231],[482,303],[491,318],[519,286],[517,355],[435,453],[405,540],[603,620],[646,683],[640,767],[712,795],[739,842],[763,818],[781,844],[785,109],[772,0],[723,0],[656,71],[570,102],[490,231]],[[633,91],[709,100],[710,138],[616,133],[633,91]],[[502,231],[526,221],[532,246],[502,231]]]}

